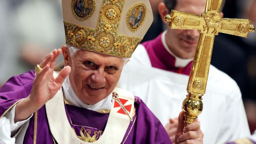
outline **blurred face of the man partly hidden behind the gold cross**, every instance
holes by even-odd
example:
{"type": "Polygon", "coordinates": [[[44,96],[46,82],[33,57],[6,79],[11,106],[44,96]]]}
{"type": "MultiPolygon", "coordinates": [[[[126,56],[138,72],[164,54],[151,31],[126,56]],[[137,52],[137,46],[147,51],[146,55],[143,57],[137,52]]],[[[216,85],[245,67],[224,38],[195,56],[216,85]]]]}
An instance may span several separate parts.
{"type": "MultiPolygon", "coordinates": [[[[205,11],[205,0],[178,0],[174,10],[201,15],[205,11]]],[[[167,28],[166,41],[170,50],[180,58],[193,58],[199,39],[198,30],[167,28]]]]}

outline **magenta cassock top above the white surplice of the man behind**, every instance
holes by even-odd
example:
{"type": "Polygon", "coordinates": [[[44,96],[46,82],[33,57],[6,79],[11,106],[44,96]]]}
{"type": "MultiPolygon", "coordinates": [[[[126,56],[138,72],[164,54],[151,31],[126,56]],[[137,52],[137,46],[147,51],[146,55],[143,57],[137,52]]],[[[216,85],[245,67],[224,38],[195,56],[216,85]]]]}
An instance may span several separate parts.
{"type": "Polygon", "coordinates": [[[162,34],[158,35],[157,38],[151,41],[142,43],[149,55],[152,67],[189,75],[192,67],[192,61],[186,67],[175,67],[176,59],[165,49],[161,39],[162,34]]]}

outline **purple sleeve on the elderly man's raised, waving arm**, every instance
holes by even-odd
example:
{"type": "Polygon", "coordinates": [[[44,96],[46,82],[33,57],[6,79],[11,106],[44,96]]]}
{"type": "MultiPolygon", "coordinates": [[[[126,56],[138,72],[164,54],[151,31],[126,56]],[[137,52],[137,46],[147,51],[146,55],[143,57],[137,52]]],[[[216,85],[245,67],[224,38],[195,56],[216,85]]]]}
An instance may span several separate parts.
{"type": "Polygon", "coordinates": [[[0,118],[17,101],[26,98],[32,89],[34,71],[11,77],[0,90],[0,118]]]}

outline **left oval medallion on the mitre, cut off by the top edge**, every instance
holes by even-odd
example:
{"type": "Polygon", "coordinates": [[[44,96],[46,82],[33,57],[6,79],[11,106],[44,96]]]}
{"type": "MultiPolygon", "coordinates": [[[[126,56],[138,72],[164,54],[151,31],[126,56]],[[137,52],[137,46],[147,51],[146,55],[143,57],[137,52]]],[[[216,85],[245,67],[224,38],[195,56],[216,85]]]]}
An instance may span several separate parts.
{"type": "Polygon", "coordinates": [[[96,8],[95,0],[72,0],[72,12],[79,21],[89,19],[96,8]]]}

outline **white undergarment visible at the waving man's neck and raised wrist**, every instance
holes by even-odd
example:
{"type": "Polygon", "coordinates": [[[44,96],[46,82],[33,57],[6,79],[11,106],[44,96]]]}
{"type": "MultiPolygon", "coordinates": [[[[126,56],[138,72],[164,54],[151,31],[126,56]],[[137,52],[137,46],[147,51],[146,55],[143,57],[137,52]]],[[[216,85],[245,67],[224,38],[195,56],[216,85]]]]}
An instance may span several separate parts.
{"type": "MultiPolygon", "coordinates": [[[[107,98],[103,99],[102,101],[96,103],[95,105],[87,105],[83,103],[75,94],[75,91],[70,85],[69,77],[67,77],[62,85],[63,91],[64,91],[64,97],[67,101],[71,102],[73,105],[82,107],[85,109],[93,110],[93,111],[99,111],[99,110],[110,110],[112,106],[112,95],[110,94],[107,98]]],[[[15,116],[15,107],[16,105],[11,108],[10,111],[8,111],[5,114],[5,117],[2,117],[0,119],[0,143],[9,143],[14,144],[14,141],[16,144],[22,144],[23,139],[25,137],[26,130],[29,126],[29,121],[32,115],[21,122],[14,123],[14,116],[15,116]],[[8,125],[6,125],[8,124],[8,125]],[[21,128],[21,129],[19,129],[21,128]],[[17,130],[19,130],[17,132],[17,130]],[[14,135],[15,134],[15,135],[14,135]],[[11,137],[11,135],[14,135],[14,137],[11,137]]]]}

